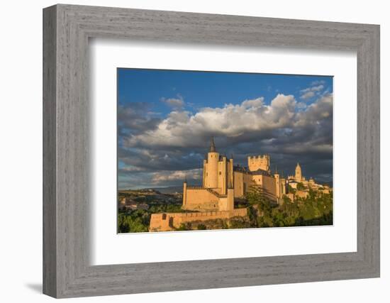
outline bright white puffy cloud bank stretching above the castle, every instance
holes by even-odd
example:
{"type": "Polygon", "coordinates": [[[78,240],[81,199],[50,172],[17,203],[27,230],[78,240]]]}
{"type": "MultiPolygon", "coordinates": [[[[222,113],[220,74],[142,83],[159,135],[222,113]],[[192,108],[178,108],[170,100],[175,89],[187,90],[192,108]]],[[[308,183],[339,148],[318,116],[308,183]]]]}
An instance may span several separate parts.
{"type": "Polygon", "coordinates": [[[126,147],[195,146],[211,135],[237,137],[250,131],[267,131],[292,125],[296,100],[292,95],[278,94],[271,104],[264,98],[225,104],[222,108],[206,107],[196,114],[172,111],[155,129],[126,138],[126,147]]]}

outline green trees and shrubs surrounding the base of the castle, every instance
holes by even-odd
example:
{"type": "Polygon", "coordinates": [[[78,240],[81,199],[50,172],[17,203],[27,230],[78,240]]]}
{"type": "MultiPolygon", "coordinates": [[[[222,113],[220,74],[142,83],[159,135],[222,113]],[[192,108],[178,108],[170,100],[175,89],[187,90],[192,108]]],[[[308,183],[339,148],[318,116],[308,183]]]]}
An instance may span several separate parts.
{"type": "MultiPolygon", "coordinates": [[[[303,186],[303,185],[302,185],[303,186]]],[[[297,189],[299,189],[299,184],[297,189]]],[[[289,189],[296,192],[296,189],[289,189]]],[[[319,226],[333,224],[333,196],[321,191],[308,190],[308,197],[296,197],[291,202],[284,196],[283,203],[278,205],[267,197],[261,187],[252,186],[245,199],[236,207],[247,207],[247,217],[230,219],[214,219],[208,221],[182,224],[177,231],[204,230],[216,228],[253,228],[275,226],[319,226]]],[[[118,232],[136,233],[147,232],[150,225],[150,216],[164,212],[184,212],[182,204],[167,204],[152,202],[149,209],[118,210],[118,232]]]]}

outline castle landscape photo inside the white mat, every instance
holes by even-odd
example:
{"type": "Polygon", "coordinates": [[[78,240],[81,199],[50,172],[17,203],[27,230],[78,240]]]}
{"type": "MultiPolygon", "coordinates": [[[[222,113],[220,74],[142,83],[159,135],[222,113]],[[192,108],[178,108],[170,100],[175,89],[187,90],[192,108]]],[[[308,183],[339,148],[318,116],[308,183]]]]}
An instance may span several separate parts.
{"type": "Polygon", "coordinates": [[[117,83],[119,233],[333,225],[333,77],[119,68],[117,83]]]}

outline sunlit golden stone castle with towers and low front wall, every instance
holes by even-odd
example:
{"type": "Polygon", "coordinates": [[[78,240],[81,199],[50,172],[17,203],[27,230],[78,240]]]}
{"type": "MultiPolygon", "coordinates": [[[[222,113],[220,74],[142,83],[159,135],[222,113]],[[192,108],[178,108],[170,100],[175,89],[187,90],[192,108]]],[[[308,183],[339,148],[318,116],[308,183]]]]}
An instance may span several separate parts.
{"type": "MultiPolygon", "coordinates": [[[[247,216],[247,209],[235,209],[235,199],[243,199],[250,187],[258,186],[265,196],[277,204],[283,197],[294,200],[289,185],[296,189],[298,183],[316,184],[306,181],[299,163],[295,175],[287,179],[278,172],[271,173],[269,155],[247,157],[247,167],[234,165],[233,157],[227,158],[216,150],[211,138],[210,148],[203,162],[202,186],[190,186],[184,181],[182,209],[193,212],[152,214],[150,231],[172,231],[180,224],[211,219],[230,219],[247,216]]],[[[317,184],[316,184],[317,185],[317,184]]],[[[305,196],[302,194],[300,197],[305,196]]]]}

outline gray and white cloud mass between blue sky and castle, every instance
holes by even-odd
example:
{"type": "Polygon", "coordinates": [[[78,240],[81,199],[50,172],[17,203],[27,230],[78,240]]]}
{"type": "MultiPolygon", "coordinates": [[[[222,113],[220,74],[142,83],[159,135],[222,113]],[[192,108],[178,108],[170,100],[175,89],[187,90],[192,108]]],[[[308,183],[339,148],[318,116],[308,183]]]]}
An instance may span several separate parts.
{"type": "Polygon", "coordinates": [[[218,152],[228,157],[233,154],[240,165],[247,165],[248,155],[269,153],[272,170],[277,166],[284,175],[292,175],[299,162],[303,175],[329,182],[333,174],[333,96],[319,96],[303,108],[298,104],[294,96],[278,94],[269,105],[257,98],[195,114],[174,109],[165,119],[147,114],[147,104],[120,108],[122,184],[181,184],[186,174],[199,183],[199,168],[211,136],[216,137],[218,152]]]}

